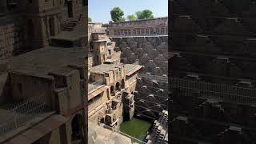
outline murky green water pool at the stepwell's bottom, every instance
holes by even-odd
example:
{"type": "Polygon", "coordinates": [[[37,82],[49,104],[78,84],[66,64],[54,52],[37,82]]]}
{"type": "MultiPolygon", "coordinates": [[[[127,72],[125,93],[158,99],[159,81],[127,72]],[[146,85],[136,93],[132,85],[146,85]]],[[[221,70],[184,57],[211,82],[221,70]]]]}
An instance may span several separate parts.
{"type": "Polygon", "coordinates": [[[130,121],[122,122],[120,130],[134,138],[143,140],[146,137],[146,132],[150,130],[152,123],[146,122],[139,118],[131,118],[130,121]]]}

